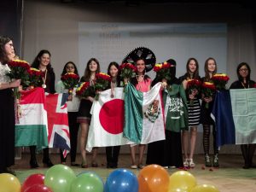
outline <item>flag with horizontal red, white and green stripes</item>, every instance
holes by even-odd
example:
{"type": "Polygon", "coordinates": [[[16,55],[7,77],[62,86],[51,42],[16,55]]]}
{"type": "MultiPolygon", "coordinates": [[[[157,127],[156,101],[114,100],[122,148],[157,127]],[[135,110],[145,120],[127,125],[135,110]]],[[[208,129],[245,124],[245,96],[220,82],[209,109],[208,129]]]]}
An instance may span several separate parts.
{"type": "Polygon", "coordinates": [[[47,113],[44,106],[43,88],[22,91],[21,116],[15,125],[15,146],[37,146],[37,150],[48,147],[47,113]]]}

